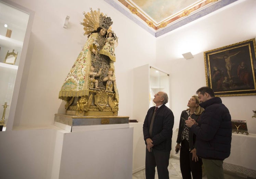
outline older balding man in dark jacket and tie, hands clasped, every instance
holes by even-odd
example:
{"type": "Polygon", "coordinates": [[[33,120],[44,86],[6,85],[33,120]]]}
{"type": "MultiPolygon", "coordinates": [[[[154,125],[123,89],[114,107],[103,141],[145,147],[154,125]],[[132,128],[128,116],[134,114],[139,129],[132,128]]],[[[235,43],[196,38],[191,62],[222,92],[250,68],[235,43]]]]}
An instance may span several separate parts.
{"type": "Polygon", "coordinates": [[[169,157],[171,151],[172,127],[174,115],[165,106],[168,96],[165,92],[154,95],[156,107],[151,107],[143,124],[143,135],[146,144],[146,179],[155,178],[155,167],[159,179],[169,179],[169,157]]]}

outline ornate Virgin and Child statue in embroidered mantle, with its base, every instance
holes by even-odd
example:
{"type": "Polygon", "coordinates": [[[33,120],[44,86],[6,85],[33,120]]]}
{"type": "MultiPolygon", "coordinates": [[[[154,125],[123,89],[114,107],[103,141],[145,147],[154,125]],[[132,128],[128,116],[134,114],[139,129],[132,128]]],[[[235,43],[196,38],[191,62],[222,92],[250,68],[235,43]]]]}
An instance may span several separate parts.
{"type": "MultiPolygon", "coordinates": [[[[83,14],[85,18],[80,24],[88,39],[61,87],[59,99],[66,101],[66,115],[74,115],[73,122],[77,121],[75,116],[80,116],[80,121],[98,121],[83,125],[128,123],[128,116],[117,116],[119,95],[114,62],[118,38],[111,28],[113,22],[100,9],[83,14]]],[[[70,116],[56,115],[55,122],[70,121],[70,116]]]]}

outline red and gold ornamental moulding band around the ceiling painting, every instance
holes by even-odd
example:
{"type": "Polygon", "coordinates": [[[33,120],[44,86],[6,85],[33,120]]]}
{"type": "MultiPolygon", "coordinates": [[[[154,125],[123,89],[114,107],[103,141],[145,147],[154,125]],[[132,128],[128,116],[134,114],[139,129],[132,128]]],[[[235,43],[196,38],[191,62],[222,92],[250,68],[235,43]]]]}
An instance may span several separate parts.
{"type": "Polygon", "coordinates": [[[154,30],[158,30],[161,28],[164,28],[168,26],[170,23],[175,22],[176,20],[190,15],[192,12],[202,8],[203,6],[216,2],[218,0],[202,0],[197,4],[189,6],[187,9],[184,9],[183,11],[174,14],[173,16],[170,16],[164,20],[162,20],[159,23],[156,23],[153,19],[151,19],[148,15],[146,15],[143,11],[137,7],[136,4],[133,4],[129,0],[118,0],[120,3],[122,3],[126,8],[128,8],[132,14],[137,15],[140,19],[142,19],[149,27],[153,28],[154,30]]]}

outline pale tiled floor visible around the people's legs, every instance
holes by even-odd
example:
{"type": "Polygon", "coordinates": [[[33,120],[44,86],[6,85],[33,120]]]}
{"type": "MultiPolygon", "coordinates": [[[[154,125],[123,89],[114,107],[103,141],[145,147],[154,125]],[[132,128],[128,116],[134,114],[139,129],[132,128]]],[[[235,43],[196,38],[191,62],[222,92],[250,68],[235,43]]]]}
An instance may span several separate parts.
{"type": "MultiPolygon", "coordinates": [[[[168,169],[169,169],[169,179],[182,179],[179,159],[171,157],[169,160],[168,169]]],[[[235,177],[235,176],[231,176],[228,174],[224,174],[224,175],[225,175],[225,179],[244,179],[241,177],[235,177]]],[[[132,175],[132,179],[145,179],[145,178],[146,178],[145,169],[132,175]]],[[[156,174],[155,174],[155,179],[158,179],[157,170],[156,170],[156,174]]],[[[203,176],[203,179],[207,179],[206,175],[203,176]]]]}

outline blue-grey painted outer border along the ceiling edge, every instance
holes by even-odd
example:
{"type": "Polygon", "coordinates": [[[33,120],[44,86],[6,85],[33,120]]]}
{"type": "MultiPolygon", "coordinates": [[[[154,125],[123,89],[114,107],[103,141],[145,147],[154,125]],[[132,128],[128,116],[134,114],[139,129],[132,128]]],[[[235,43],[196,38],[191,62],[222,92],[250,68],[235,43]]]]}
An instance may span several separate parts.
{"type": "Polygon", "coordinates": [[[148,31],[150,34],[152,34],[155,37],[159,37],[164,35],[165,33],[168,33],[174,29],[177,29],[185,24],[188,24],[196,19],[199,19],[209,13],[212,13],[220,8],[225,7],[226,5],[229,5],[235,1],[239,1],[239,0],[222,0],[219,1],[213,5],[210,5],[209,7],[193,14],[190,15],[182,20],[180,20],[177,23],[171,24],[171,25],[167,25],[167,27],[163,28],[162,30],[159,31],[155,31],[154,29],[150,28],[148,25],[142,23],[139,19],[137,19],[136,17],[134,17],[134,15],[131,12],[128,12],[127,10],[125,10],[124,8],[122,8],[119,4],[117,4],[116,2],[114,2],[113,0],[104,0],[105,2],[107,2],[108,4],[110,4],[111,6],[113,6],[116,10],[120,11],[122,14],[124,14],[126,17],[128,17],[129,19],[131,19],[133,22],[135,22],[136,24],[138,24],[140,27],[142,27],[144,30],[148,31]]]}

